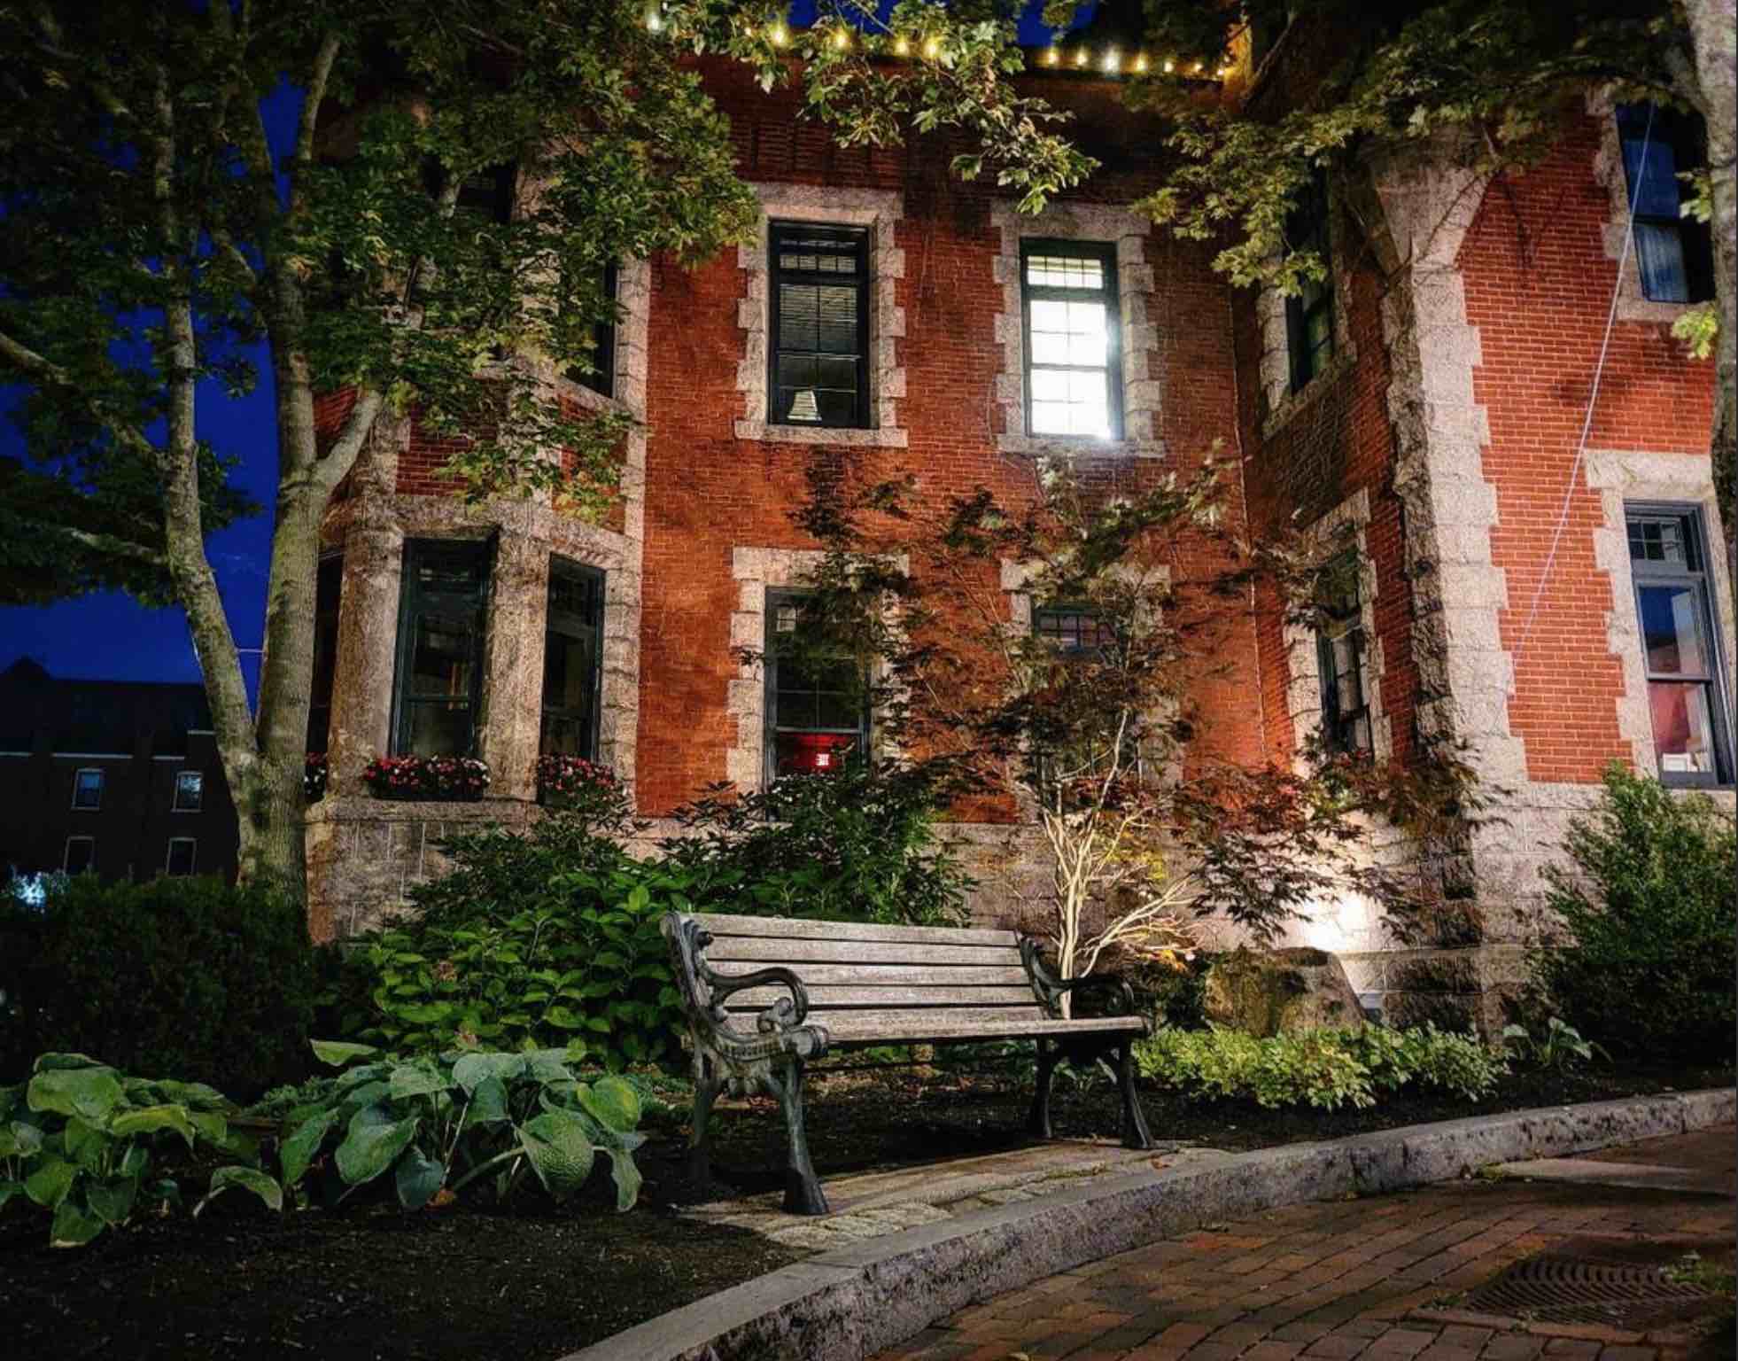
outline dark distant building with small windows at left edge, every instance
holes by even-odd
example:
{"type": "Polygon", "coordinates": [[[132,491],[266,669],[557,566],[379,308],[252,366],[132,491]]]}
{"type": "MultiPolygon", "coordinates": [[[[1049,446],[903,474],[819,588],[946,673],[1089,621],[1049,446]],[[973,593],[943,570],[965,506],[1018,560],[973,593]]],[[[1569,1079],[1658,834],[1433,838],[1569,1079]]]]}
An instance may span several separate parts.
{"type": "Polygon", "coordinates": [[[202,687],[0,671],[0,873],[235,878],[235,850],[202,687]]]}

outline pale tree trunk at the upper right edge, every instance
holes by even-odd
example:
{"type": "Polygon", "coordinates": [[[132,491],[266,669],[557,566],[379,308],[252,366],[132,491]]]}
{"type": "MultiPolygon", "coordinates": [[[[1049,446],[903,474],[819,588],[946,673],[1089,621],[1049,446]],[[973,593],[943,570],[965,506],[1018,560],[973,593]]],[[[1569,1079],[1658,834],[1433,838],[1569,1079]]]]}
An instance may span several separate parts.
{"type": "Polygon", "coordinates": [[[1726,565],[1738,582],[1738,16],[1731,0],[1686,0],[1700,87],[1686,92],[1708,129],[1708,170],[1714,181],[1714,297],[1721,332],[1714,351],[1714,487],[1726,528],[1726,565]]]}

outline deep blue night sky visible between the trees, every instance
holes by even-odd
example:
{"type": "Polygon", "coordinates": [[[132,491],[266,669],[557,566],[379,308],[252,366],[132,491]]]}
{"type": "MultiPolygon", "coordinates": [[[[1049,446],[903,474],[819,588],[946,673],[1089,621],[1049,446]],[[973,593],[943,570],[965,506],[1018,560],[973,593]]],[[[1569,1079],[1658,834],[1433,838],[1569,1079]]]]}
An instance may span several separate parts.
{"type": "MultiPolygon", "coordinates": [[[[1050,38],[1032,0],[1020,19],[1020,40],[1039,45],[1050,38]]],[[[812,16],[810,3],[793,5],[794,23],[812,16]]],[[[1088,10],[1090,14],[1090,10],[1088,10]]],[[[273,144],[289,148],[295,120],[294,92],[268,101],[266,123],[273,144]]],[[[198,429],[216,448],[240,457],[235,476],[266,511],[207,541],[229,626],[243,648],[242,662],[252,690],[259,673],[259,641],[266,614],[266,554],[271,544],[271,502],[276,487],[278,450],[273,422],[271,374],[245,398],[228,398],[217,384],[198,393],[198,429]],[[252,650],[249,650],[252,648],[252,650]]],[[[12,452],[17,435],[0,429],[0,448],[12,452]]],[[[179,608],[146,610],[118,591],[104,591],[40,608],[0,608],[0,669],[14,657],[42,662],[56,676],[111,680],[196,681],[198,661],[179,608]]]]}

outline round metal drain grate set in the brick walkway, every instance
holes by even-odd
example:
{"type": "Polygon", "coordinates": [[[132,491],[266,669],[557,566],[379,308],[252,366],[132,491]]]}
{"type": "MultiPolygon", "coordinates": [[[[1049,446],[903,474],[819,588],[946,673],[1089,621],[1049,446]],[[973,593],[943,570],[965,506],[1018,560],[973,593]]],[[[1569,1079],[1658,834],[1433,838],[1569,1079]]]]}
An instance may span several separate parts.
{"type": "Polygon", "coordinates": [[[1710,1298],[1705,1290],[1667,1279],[1660,1267],[1543,1253],[1486,1281],[1467,1297],[1465,1307],[1538,1323],[1604,1323],[1644,1331],[1695,1318],[1710,1298]]]}

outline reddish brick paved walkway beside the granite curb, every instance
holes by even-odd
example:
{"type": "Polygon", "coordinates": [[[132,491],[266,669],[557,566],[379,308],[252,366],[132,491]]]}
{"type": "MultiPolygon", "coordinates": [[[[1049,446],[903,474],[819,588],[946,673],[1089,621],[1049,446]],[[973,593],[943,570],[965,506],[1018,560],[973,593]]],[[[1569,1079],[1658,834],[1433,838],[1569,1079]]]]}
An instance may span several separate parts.
{"type": "MultiPolygon", "coordinates": [[[[1606,1158],[1726,1173],[1735,1130],[1606,1158]]],[[[1674,1361],[1724,1356],[1695,1330],[1456,1321],[1456,1297],[1568,1239],[1731,1260],[1726,1196],[1465,1180],[1298,1205],[1164,1239],[975,1304],[878,1361],[1674,1361]],[[1437,1305],[1437,1309],[1430,1309],[1437,1305]]],[[[1477,1318],[1477,1316],[1470,1316],[1477,1318]]]]}

